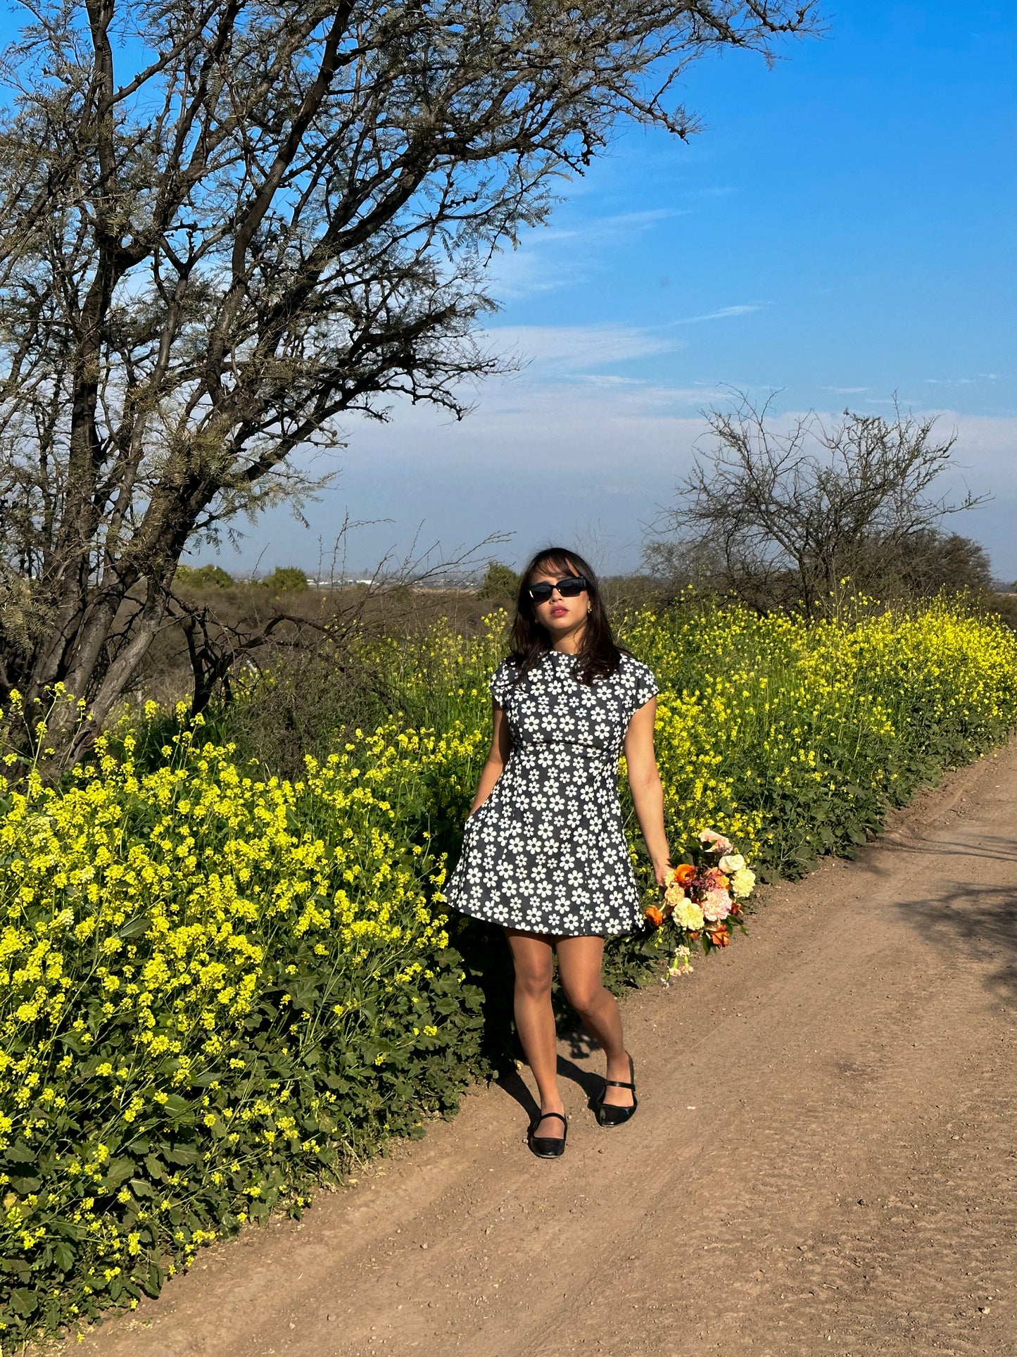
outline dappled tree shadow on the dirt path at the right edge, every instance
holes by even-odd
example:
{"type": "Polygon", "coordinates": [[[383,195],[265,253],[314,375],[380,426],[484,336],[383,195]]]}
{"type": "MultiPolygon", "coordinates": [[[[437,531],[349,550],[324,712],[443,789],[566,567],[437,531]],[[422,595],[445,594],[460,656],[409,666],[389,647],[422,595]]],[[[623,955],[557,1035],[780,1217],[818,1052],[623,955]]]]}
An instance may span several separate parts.
{"type": "MultiPolygon", "coordinates": [[[[1001,840],[1005,843],[1005,840],[1001,840]]],[[[967,845],[955,849],[968,856],[967,845]]],[[[999,854],[1017,860],[1017,854],[999,854]]],[[[896,902],[909,924],[949,951],[963,949],[987,963],[986,987],[1002,999],[1017,996],[1017,886],[948,883],[937,896],[896,902]]]]}

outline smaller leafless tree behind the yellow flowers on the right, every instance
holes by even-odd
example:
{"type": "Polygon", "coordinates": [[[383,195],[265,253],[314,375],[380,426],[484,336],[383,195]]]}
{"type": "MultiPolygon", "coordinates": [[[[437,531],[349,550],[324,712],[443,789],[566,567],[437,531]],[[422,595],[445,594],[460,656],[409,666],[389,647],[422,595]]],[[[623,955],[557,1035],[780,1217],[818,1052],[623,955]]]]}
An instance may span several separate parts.
{"type": "Polygon", "coordinates": [[[984,498],[951,502],[933,490],[956,434],[937,437],[934,417],[896,404],[892,419],[845,410],[833,427],[811,414],[781,429],[772,403],[755,408],[739,394],[734,410],[706,414],[713,445],[648,540],[651,569],[706,574],[757,607],[793,601],[807,619],[845,578],[928,586],[963,556],[965,578],[982,579],[978,548],[938,528],[984,498]]]}

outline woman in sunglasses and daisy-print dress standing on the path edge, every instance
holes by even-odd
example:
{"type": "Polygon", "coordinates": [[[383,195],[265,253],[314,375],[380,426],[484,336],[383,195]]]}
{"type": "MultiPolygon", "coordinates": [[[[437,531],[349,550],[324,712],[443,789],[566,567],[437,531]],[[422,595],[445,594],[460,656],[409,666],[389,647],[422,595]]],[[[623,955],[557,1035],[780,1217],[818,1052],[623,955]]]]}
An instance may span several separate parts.
{"type": "Polygon", "coordinates": [[[603,940],[643,924],[618,802],[624,748],[643,837],[663,885],[663,792],[654,756],[654,676],[621,650],[590,566],[538,552],[519,585],[515,650],[491,680],[494,735],[447,889],[461,913],[502,924],[515,966],[515,1025],[540,1090],[530,1149],[564,1153],[553,955],[568,1001],[607,1057],[602,1126],[636,1111],[621,1014],[601,981],[603,940]]]}

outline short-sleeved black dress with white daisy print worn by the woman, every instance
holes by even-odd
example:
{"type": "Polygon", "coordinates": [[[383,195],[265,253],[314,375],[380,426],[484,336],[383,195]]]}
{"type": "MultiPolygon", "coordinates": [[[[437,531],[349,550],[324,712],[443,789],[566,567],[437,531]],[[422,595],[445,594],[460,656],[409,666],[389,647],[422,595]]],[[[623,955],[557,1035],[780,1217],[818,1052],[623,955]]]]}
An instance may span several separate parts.
{"type": "Polygon", "coordinates": [[[618,757],[633,712],[658,692],[631,655],[593,684],[549,650],[521,681],[491,678],[511,753],[466,821],[446,890],[460,913],[556,938],[613,936],[643,924],[618,801],[618,757]]]}

